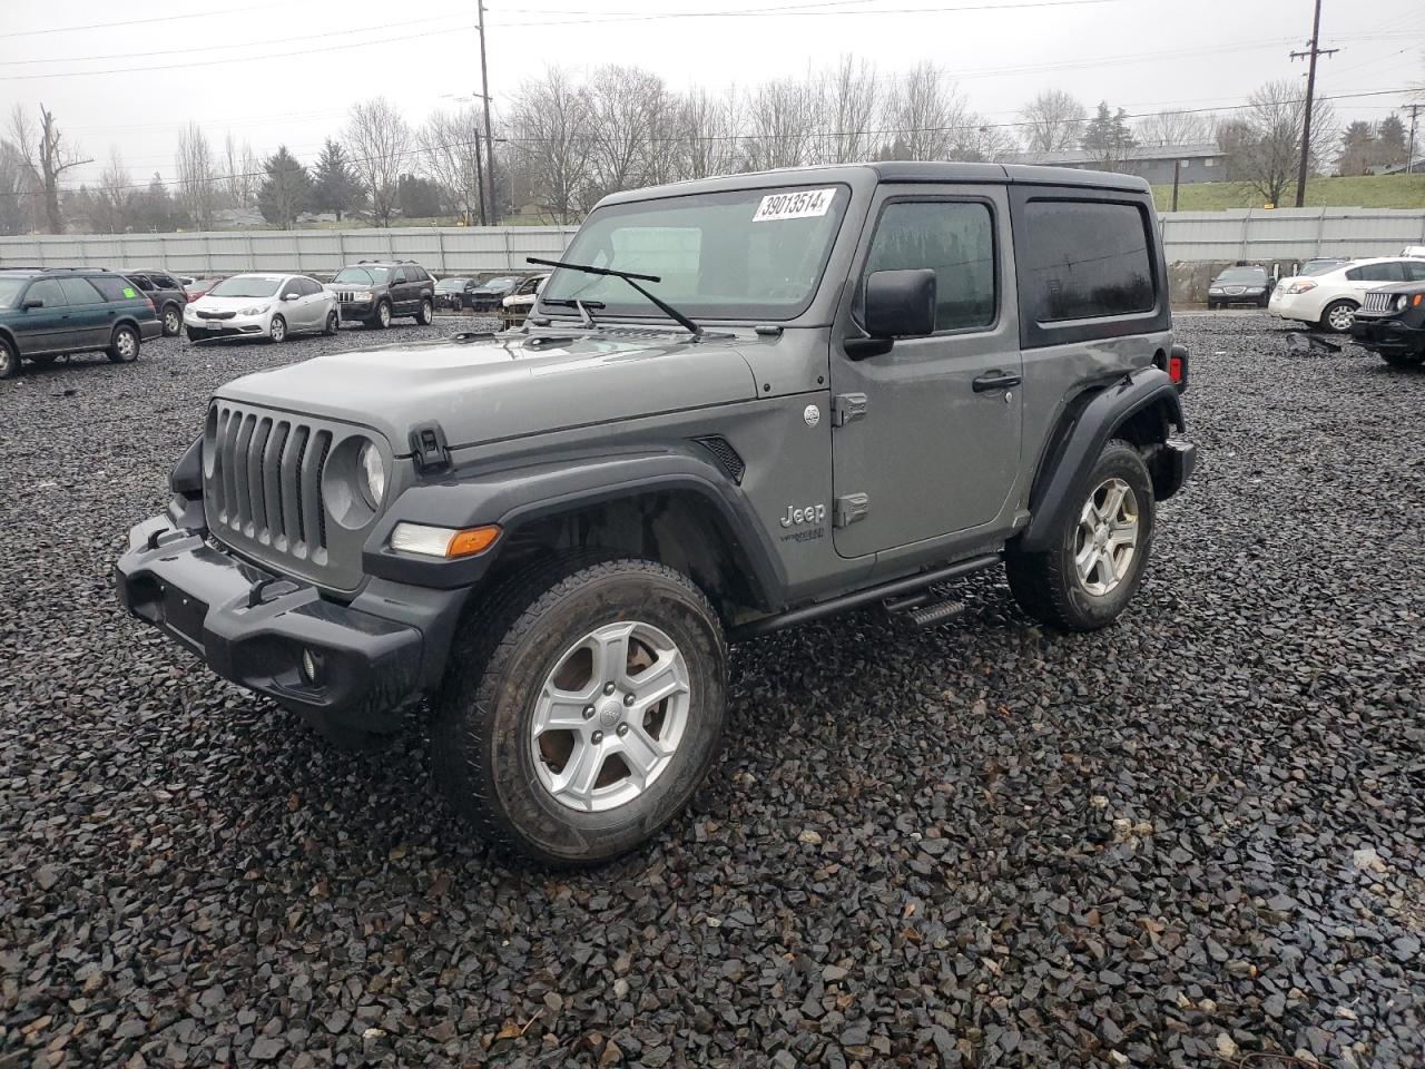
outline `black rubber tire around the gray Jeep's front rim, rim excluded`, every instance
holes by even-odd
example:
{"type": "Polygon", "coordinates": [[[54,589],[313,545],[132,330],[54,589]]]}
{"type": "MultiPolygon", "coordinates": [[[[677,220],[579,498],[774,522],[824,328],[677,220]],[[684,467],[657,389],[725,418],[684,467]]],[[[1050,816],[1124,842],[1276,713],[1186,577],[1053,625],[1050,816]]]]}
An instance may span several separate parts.
{"type": "Polygon", "coordinates": [[[496,848],[544,865],[597,865],[656,835],[693,797],[717,755],[727,703],[727,643],[693,580],[640,559],[539,563],[482,601],[483,626],[450,651],[430,745],[452,808],[496,848]],[[557,801],[539,780],[530,724],[540,688],[591,629],[641,620],[688,666],[690,710],[671,764],[633,801],[597,812],[557,801]]]}

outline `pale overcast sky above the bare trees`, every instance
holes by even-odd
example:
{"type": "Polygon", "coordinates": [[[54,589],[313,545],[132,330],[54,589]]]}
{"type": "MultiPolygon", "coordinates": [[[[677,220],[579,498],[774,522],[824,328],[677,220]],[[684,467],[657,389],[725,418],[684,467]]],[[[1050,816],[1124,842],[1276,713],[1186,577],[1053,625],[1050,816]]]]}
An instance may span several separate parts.
{"type": "MultiPolygon", "coordinates": [[[[1321,60],[1320,91],[1425,80],[1422,7],[1325,0],[1322,46],[1341,51],[1321,60]]],[[[492,0],[486,11],[496,110],[546,64],[637,64],[681,90],[802,74],[841,53],[885,77],[932,60],[999,123],[1042,88],[1130,113],[1227,107],[1265,80],[1304,77],[1288,51],[1311,34],[1311,0],[492,0]]],[[[415,124],[480,80],[475,0],[0,0],[0,13],[4,115],[43,101],[95,160],[66,185],[97,178],[111,143],[135,180],[171,177],[188,120],[215,148],[231,131],[259,155],[285,143],[309,162],[353,101],[386,94],[415,124]]],[[[1399,103],[1335,105],[1379,120],[1399,103]]]]}

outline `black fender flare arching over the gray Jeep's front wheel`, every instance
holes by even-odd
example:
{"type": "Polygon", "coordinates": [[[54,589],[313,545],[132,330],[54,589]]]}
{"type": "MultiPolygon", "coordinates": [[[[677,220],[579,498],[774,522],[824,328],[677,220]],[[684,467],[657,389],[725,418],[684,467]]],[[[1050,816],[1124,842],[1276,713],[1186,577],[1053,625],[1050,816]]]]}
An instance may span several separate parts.
{"type": "Polygon", "coordinates": [[[499,523],[506,530],[543,516],[664,492],[687,492],[711,506],[720,534],[745,570],[757,600],[778,604],[785,576],[770,539],[742,490],[697,446],[670,445],[598,455],[567,455],[539,463],[453,473],[439,483],[408,489],[366,539],[362,563],[368,574],[419,586],[470,586],[489,570],[502,543],[490,553],[462,560],[416,559],[393,553],[390,532],[400,522],[440,527],[499,523]]]}

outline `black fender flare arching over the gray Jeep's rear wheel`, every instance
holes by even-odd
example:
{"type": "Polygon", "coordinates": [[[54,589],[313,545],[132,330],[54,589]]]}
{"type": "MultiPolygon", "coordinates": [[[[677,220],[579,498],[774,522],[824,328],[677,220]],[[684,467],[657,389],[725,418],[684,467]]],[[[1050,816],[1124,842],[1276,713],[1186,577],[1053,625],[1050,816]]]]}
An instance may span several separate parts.
{"type": "Polygon", "coordinates": [[[1035,479],[1030,520],[1019,537],[1019,549],[1042,553],[1053,544],[1064,512],[1087,493],[1089,473],[1109,439],[1126,420],[1159,405],[1166,406],[1168,422],[1181,430],[1183,402],[1173,379],[1160,368],[1140,368],[1090,395],[1077,412],[1070,410],[1067,430],[1057,436],[1035,479]]]}

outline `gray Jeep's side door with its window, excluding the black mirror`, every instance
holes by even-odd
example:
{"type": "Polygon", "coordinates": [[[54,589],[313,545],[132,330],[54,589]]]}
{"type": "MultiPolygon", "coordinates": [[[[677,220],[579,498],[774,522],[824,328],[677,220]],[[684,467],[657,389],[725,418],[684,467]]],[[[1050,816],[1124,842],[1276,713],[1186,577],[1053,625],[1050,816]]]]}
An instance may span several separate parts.
{"type": "Polygon", "coordinates": [[[844,557],[992,525],[1019,469],[1022,375],[1003,187],[882,187],[832,345],[834,544],[844,557]],[[874,271],[931,268],[936,331],[852,359],[874,271]],[[849,314],[848,314],[849,312],[849,314]]]}

